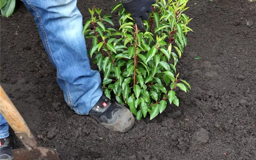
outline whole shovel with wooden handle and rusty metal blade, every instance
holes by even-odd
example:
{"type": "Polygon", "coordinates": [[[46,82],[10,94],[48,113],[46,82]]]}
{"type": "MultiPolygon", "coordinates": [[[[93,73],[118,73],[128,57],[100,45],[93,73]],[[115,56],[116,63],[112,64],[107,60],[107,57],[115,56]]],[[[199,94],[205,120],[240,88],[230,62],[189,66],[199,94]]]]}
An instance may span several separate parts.
{"type": "Polygon", "coordinates": [[[0,113],[26,148],[13,149],[15,160],[60,160],[55,149],[38,146],[28,125],[0,85],[0,113]]]}

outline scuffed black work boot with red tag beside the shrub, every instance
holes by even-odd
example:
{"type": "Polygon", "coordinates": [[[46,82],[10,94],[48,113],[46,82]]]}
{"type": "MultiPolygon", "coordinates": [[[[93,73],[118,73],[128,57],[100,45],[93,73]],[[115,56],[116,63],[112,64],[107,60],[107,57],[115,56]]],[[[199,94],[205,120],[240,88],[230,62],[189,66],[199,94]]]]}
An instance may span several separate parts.
{"type": "Polygon", "coordinates": [[[134,116],[128,108],[115,100],[109,100],[104,95],[89,112],[89,116],[111,131],[124,133],[134,124],[134,116]]]}

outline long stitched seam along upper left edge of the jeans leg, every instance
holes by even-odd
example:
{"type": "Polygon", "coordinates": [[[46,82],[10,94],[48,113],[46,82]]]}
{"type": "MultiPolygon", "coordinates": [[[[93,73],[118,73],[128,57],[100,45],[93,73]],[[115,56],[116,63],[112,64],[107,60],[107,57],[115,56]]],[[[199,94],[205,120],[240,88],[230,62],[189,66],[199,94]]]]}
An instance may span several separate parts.
{"type": "Polygon", "coordinates": [[[36,17],[38,18],[38,20],[39,20],[39,22],[40,22],[40,28],[41,28],[42,33],[43,33],[43,35],[44,35],[44,42],[45,42],[45,44],[46,44],[46,48],[47,48],[47,50],[48,50],[48,52],[49,52],[49,54],[50,54],[50,57],[51,57],[51,59],[52,59],[54,65],[56,66],[55,60],[53,59],[53,56],[52,56],[51,48],[50,48],[49,43],[48,43],[47,35],[46,35],[45,30],[44,30],[44,28],[43,28],[43,20],[42,20],[42,17],[40,16],[40,14],[39,14],[39,12],[37,11],[37,9],[36,9],[28,0],[26,0],[26,2],[27,2],[27,4],[36,12],[36,17]]]}

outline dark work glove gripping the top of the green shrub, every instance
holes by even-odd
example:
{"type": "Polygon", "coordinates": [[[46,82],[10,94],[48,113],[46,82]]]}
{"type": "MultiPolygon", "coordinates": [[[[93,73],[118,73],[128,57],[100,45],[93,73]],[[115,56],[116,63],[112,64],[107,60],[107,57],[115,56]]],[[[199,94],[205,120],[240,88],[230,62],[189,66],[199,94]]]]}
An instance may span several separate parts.
{"type": "Polygon", "coordinates": [[[121,0],[124,9],[132,14],[132,18],[141,32],[146,32],[142,19],[148,20],[148,13],[152,13],[152,4],[156,0],[121,0]],[[142,18],[142,19],[141,19],[142,18]]]}

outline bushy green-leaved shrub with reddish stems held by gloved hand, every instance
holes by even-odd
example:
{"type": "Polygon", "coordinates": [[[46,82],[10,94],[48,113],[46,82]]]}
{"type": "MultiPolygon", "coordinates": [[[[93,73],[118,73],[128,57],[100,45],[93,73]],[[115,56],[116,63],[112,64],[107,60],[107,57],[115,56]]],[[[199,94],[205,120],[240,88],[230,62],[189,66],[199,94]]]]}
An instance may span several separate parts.
{"type": "Polygon", "coordinates": [[[104,73],[103,91],[110,98],[129,106],[137,119],[150,119],[162,113],[167,105],[179,106],[175,95],[177,88],[188,92],[190,85],[179,79],[176,65],[187,45],[186,34],[191,20],[183,12],[188,0],[157,0],[153,13],[143,23],[147,32],[142,33],[131,14],[121,3],[111,12],[119,15],[119,30],[106,28],[114,25],[110,15],[101,17],[101,10],[89,9],[92,17],[85,23],[83,34],[92,39],[90,56],[104,73]],[[113,94],[114,93],[114,94],[113,94]]]}

